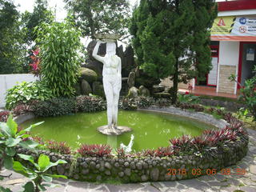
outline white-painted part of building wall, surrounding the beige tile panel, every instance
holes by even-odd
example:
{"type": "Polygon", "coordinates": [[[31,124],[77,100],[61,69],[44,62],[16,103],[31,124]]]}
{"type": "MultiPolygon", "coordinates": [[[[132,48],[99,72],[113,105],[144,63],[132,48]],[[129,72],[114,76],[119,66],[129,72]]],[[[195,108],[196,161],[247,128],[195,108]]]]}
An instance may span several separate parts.
{"type": "MultiPolygon", "coordinates": [[[[239,48],[240,42],[219,42],[219,58],[218,65],[219,66],[236,66],[238,74],[238,62],[239,62],[239,48]]],[[[218,92],[218,84],[219,84],[219,69],[218,67],[218,82],[217,82],[217,92],[218,92]]],[[[227,73],[229,71],[226,71],[227,73]]],[[[234,94],[237,92],[237,83],[235,83],[234,94]]]]}

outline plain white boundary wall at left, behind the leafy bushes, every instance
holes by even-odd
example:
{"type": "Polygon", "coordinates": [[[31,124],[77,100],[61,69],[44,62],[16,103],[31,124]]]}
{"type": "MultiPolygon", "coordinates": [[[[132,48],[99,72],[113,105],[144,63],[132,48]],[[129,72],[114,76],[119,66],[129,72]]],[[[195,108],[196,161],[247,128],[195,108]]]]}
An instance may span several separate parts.
{"type": "Polygon", "coordinates": [[[37,79],[34,74],[0,74],[0,107],[6,106],[6,90],[19,82],[35,82],[37,79]]]}

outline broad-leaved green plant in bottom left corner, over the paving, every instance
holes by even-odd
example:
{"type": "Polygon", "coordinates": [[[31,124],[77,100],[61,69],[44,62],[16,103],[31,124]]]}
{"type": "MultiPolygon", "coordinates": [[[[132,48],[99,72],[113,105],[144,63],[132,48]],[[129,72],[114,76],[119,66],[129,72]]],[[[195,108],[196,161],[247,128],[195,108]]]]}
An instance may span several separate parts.
{"type": "Polygon", "coordinates": [[[32,180],[31,182],[26,182],[26,185],[23,186],[25,191],[46,191],[46,186],[54,187],[56,185],[51,183],[42,183],[43,181],[52,182],[53,178],[66,178],[64,175],[46,173],[50,167],[66,163],[66,161],[62,159],[59,159],[57,162],[50,162],[50,158],[47,155],[40,154],[38,163],[36,163],[31,155],[18,154],[18,157],[29,161],[34,166],[33,168],[27,168],[26,166],[22,166],[21,162],[14,161],[14,170],[32,180]]]}

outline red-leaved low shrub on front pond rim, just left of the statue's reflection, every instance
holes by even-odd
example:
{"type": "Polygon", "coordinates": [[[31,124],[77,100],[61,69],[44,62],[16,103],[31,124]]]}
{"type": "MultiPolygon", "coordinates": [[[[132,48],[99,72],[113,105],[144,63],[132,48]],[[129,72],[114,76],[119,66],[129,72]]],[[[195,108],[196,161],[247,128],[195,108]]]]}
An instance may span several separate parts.
{"type": "Polygon", "coordinates": [[[78,149],[78,153],[82,156],[92,156],[92,157],[103,157],[110,156],[112,149],[108,145],[102,144],[94,144],[94,145],[86,145],[83,144],[78,149]]]}

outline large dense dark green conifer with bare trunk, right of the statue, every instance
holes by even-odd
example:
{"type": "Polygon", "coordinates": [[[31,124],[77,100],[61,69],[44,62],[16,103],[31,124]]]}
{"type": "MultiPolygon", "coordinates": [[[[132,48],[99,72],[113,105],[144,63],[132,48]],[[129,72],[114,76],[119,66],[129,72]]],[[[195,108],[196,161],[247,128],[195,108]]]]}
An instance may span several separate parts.
{"type": "Polygon", "coordinates": [[[134,10],[130,34],[138,65],[154,78],[171,76],[173,103],[178,82],[211,68],[209,29],[216,16],[212,0],[141,0],[134,10]]]}

